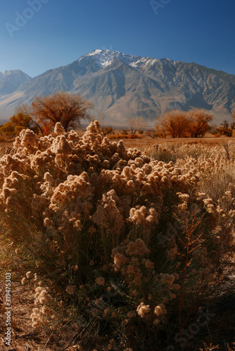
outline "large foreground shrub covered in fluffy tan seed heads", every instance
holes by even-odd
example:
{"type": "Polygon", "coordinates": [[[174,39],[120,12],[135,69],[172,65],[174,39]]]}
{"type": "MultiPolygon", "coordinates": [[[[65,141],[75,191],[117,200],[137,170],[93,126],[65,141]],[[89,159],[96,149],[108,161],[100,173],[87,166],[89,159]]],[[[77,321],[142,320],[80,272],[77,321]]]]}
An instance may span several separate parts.
{"type": "Polygon", "coordinates": [[[66,324],[85,350],[172,343],[234,244],[195,169],[110,142],[97,121],[82,137],[27,129],[13,147],[0,160],[1,240],[36,274],[34,326],[66,324]]]}

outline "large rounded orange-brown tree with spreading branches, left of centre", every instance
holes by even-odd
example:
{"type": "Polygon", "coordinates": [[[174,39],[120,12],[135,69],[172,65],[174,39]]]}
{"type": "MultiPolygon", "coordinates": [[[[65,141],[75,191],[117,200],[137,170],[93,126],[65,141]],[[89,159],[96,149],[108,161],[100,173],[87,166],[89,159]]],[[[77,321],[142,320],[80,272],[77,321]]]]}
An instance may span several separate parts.
{"type": "Polygon", "coordinates": [[[56,122],[60,122],[65,131],[80,127],[81,119],[90,119],[89,110],[93,106],[81,95],[63,91],[35,97],[31,106],[24,105],[22,110],[29,112],[32,119],[42,126],[42,131],[48,134],[56,122]]]}

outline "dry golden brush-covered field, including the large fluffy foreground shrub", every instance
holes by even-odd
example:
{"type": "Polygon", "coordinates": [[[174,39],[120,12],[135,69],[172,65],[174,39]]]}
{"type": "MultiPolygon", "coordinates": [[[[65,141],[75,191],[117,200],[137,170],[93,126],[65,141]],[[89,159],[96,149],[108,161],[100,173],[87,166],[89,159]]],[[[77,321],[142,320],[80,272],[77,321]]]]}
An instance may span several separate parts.
{"type": "Polygon", "coordinates": [[[28,129],[0,187],[0,350],[233,350],[234,138],[28,129]]]}

